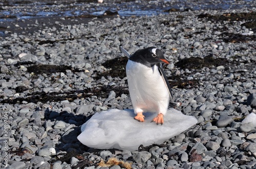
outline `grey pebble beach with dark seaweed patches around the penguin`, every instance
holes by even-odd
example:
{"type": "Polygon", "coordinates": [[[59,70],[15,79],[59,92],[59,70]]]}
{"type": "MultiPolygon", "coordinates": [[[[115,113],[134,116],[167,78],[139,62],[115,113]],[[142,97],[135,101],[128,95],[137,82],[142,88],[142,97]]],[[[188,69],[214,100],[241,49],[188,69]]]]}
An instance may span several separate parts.
{"type": "Polygon", "coordinates": [[[256,9],[249,3],[251,8],[34,18],[6,26],[0,37],[1,167],[99,168],[114,157],[121,162],[100,165],[255,168],[256,125],[241,123],[256,107],[256,9]],[[198,124],[132,152],[78,142],[80,126],[95,112],[132,108],[119,46],[130,53],[162,49],[172,63],[165,72],[182,103],[177,109],[198,124]]]}

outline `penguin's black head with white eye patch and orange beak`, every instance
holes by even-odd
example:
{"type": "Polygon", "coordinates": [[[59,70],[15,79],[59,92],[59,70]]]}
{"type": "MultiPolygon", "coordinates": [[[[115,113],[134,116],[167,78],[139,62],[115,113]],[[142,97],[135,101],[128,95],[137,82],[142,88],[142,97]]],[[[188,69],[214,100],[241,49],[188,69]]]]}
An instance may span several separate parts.
{"type": "Polygon", "coordinates": [[[164,57],[163,52],[156,47],[148,47],[145,49],[137,50],[130,60],[141,63],[148,67],[152,67],[157,63],[169,64],[167,59],[164,57]]]}

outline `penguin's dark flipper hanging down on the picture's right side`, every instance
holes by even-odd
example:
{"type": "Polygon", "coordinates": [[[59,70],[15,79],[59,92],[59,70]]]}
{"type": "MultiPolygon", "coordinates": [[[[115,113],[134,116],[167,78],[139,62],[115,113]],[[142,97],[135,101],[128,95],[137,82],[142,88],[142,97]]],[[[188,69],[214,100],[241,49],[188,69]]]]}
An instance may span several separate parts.
{"type": "Polygon", "coordinates": [[[169,85],[169,81],[164,73],[164,70],[163,70],[163,65],[161,63],[159,63],[158,65],[158,70],[160,72],[160,74],[162,75],[163,77],[163,80],[164,80],[164,83],[165,83],[165,86],[166,88],[168,89],[168,92],[169,92],[169,95],[170,95],[170,102],[169,102],[169,107],[179,107],[181,106],[181,102],[175,102],[173,101],[174,99],[174,96],[172,94],[172,89],[170,88],[170,85],[169,85]]]}

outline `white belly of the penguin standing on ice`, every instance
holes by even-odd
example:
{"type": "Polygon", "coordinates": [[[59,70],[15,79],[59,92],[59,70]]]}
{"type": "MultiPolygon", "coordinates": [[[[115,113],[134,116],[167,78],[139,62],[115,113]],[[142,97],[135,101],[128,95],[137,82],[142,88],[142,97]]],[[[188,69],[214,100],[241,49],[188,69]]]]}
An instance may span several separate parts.
{"type": "Polygon", "coordinates": [[[135,114],[157,112],[166,114],[169,93],[158,67],[149,68],[129,60],[126,65],[129,92],[135,114]]]}

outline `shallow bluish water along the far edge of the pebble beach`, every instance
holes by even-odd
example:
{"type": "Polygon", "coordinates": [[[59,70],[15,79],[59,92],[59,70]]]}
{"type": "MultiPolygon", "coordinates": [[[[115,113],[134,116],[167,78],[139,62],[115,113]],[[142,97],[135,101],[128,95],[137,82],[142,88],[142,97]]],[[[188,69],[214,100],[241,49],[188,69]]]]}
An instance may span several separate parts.
{"type": "Polygon", "coordinates": [[[102,4],[95,1],[82,0],[58,0],[46,1],[3,1],[0,3],[0,21],[28,19],[33,17],[47,16],[82,16],[82,15],[102,15],[106,10],[117,11],[120,16],[141,16],[158,15],[167,13],[169,9],[177,10],[226,10],[236,8],[255,8],[254,0],[236,1],[236,0],[164,0],[164,1],[121,1],[104,0],[102,4]]]}

